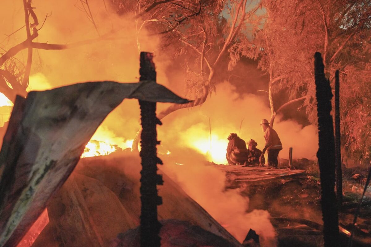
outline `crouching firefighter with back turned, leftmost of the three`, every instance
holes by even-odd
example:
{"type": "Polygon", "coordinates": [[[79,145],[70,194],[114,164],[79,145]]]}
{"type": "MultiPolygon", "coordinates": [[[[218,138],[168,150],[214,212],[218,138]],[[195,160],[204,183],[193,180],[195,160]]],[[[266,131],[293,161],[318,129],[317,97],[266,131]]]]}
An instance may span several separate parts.
{"type": "Polygon", "coordinates": [[[246,143],[236,133],[230,133],[228,138],[226,158],[229,165],[242,165],[247,162],[248,151],[246,143]]]}

